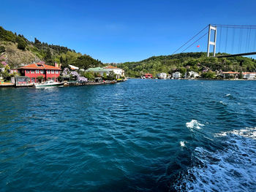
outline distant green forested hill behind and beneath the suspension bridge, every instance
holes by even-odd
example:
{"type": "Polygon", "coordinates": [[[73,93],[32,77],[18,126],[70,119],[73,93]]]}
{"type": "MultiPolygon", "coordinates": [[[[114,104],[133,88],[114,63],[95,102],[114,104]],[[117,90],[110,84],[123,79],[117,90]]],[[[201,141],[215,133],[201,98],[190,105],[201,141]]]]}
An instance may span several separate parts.
{"type": "MultiPolygon", "coordinates": [[[[226,53],[218,53],[226,55],[226,53]]],[[[127,62],[116,64],[123,68],[129,77],[140,77],[144,73],[153,75],[159,72],[171,74],[181,72],[185,74],[189,71],[195,72],[255,72],[256,61],[253,58],[230,57],[230,58],[207,58],[206,53],[179,53],[176,55],[161,55],[147,58],[138,62],[127,62]]]]}

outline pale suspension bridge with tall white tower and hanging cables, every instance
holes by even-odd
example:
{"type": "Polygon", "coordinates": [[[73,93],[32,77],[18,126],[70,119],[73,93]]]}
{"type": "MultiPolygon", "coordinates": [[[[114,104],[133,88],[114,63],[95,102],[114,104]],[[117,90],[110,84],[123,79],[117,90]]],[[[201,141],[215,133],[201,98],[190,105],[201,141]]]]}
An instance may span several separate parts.
{"type": "Polygon", "coordinates": [[[209,24],[173,52],[206,49],[207,56],[217,58],[256,55],[256,26],[209,24]],[[194,47],[192,47],[194,45],[194,47]]]}

